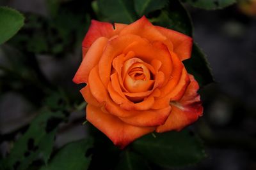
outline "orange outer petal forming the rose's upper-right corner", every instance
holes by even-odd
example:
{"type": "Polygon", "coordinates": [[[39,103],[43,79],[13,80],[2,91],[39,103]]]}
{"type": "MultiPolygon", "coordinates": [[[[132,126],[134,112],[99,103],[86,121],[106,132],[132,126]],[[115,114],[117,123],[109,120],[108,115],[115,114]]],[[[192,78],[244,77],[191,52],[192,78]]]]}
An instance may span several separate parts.
{"type": "MultiPolygon", "coordinates": [[[[166,36],[170,41],[172,41],[173,51],[177,53],[180,60],[186,60],[191,57],[191,50],[193,45],[193,39],[185,34],[182,34],[177,31],[173,31],[171,29],[166,29],[164,27],[155,26],[156,29],[161,32],[164,36],[166,36]]],[[[167,46],[170,46],[166,44],[167,46]]],[[[172,51],[172,49],[170,49],[172,51]]]]}

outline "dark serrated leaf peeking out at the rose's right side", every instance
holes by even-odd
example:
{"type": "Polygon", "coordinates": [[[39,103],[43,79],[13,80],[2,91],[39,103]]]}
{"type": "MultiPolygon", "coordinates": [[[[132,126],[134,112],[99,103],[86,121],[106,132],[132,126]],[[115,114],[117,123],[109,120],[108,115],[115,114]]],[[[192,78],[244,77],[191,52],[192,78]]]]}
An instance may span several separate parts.
{"type": "Polygon", "coordinates": [[[200,86],[212,83],[213,76],[204,52],[194,43],[191,58],[183,61],[188,73],[193,74],[200,86]]]}

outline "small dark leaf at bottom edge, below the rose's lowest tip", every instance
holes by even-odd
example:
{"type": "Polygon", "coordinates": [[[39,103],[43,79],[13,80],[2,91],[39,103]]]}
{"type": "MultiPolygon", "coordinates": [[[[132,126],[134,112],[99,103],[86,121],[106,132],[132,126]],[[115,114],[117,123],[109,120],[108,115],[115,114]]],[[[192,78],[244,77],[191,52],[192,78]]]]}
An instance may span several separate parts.
{"type": "Polygon", "coordinates": [[[150,170],[150,167],[143,157],[129,150],[125,150],[115,170],[150,170]]]}

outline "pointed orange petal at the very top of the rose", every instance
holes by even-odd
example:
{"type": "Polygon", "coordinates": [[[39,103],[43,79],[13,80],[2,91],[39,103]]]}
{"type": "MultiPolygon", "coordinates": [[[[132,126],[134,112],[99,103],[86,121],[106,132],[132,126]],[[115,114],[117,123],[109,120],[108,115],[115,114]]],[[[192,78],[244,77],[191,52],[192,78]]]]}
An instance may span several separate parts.
{"type": "Polygon", "coordinates": [[[136,22],[127,25],[119,34],[136,34],[150,41],[164,41],[164,39],[166,39],[166,37],[163,36],[163,34],[161,34],[161,32],[159,32],[145,16],[136,20],[136,22]]]}

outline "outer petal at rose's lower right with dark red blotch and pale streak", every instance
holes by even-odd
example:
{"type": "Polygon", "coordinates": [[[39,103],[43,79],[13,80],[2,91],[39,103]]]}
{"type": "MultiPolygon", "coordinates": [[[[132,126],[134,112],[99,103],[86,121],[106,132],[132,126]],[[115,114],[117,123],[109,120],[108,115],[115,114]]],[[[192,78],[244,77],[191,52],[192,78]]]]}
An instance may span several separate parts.
{"type": "Polygon", "coordinates": [[[166,132],[177,130],[195,122],[199,116],[202,116],[203,107],[200,96],[197,94],[198,83],[189,75],[191,83],[180,101],[170,103],[172,112],[164,125],[157,127],[156,132],[166,132]]]}

